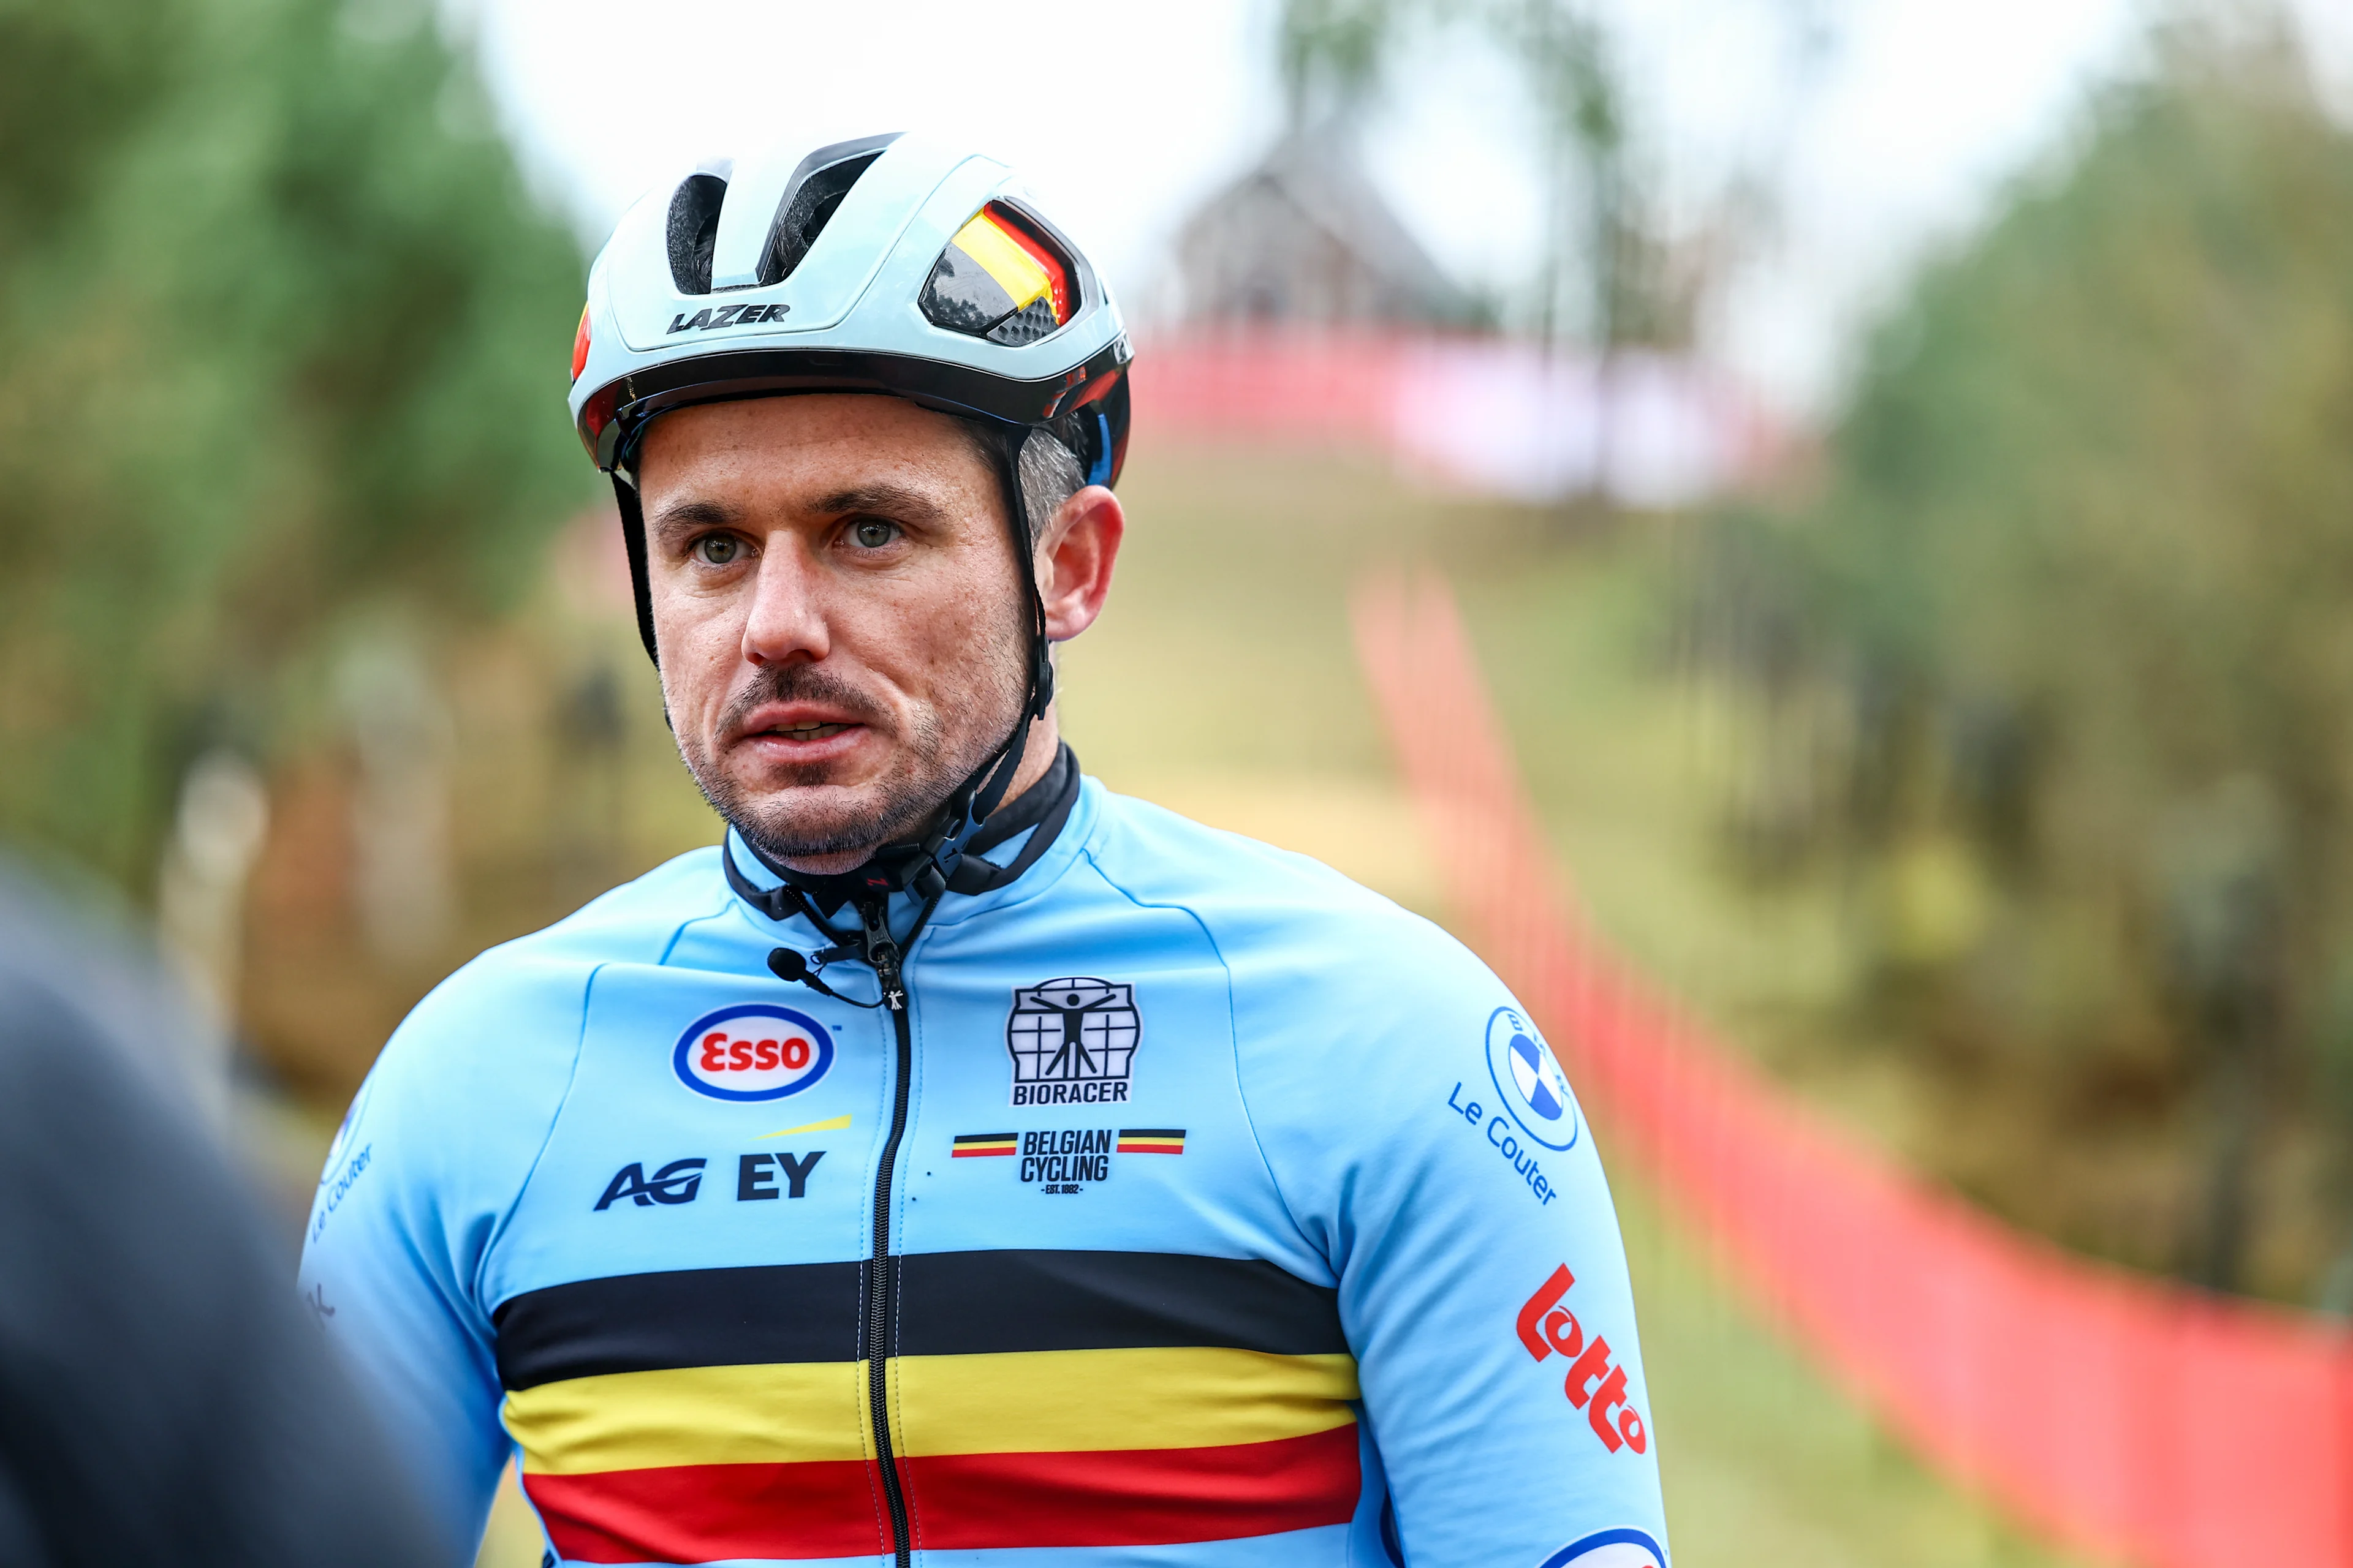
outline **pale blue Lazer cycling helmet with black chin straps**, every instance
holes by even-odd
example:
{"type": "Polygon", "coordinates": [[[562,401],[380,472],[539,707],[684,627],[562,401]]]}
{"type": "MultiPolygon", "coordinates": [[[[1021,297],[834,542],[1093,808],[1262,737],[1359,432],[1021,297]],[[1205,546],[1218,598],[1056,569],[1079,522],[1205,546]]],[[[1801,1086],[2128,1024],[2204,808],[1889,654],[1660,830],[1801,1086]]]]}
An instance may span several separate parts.
{"type": "Polygon", "coordinates": [[[920,853],[878,872],[892,886],[953,875],[1019,766],[1028,719],[1052,703],[1021,444],[1047,430],[1089,484],[1113,484],[1132,357],[1111,289],[1012,169],[922,136],[704,162],[631,207],[588,273],[572,418],[612,475],[638,635],[656,663],[635,482],[654,418],[739,397],[892,393],[993,437],[1031,604],[1028,703],[955,797],[944,837],[894,846],[920,853]]]}

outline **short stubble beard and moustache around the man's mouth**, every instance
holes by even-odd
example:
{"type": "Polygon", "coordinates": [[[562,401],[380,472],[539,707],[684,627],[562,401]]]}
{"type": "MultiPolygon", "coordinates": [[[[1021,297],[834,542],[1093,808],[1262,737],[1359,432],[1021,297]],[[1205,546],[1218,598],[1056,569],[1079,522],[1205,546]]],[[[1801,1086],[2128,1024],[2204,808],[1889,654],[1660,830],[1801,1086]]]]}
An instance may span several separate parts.
{"type": "Polygon", "coordinates": [[[814,762],[769,769],[774,783],[751,788],[711,755],[704,736],[680,733],[678,755],[711,809],[769,860],[864,858],[885,844],[920,837],[948,797],[1005,743],[1021,705],[1014,668],[1009,639],[993,637],[965,665],[965,682],[944,689],[939,703],[918,708],[904,726],[821,665],[760,670],[729,698],[715,729],[720,736],[734,733],[762,703],[798,701],[835,705],[889,736],[896,743],[892,766],[864,785],[838,788],[833,766],[814,762]],[[819,790],[833,799],[816,799],[819,790]]]}

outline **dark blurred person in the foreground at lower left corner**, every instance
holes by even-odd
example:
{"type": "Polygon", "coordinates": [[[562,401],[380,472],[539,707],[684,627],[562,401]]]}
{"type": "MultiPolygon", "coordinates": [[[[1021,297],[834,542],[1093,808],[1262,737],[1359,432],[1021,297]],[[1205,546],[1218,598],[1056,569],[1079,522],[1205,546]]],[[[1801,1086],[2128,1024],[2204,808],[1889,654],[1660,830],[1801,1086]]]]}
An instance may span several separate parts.
{"type": "Polygon", "coordinates": [[[0,1563],[433,1563],[165,1060],[179,997],[75,931],[0,865],[0,1563]]]}

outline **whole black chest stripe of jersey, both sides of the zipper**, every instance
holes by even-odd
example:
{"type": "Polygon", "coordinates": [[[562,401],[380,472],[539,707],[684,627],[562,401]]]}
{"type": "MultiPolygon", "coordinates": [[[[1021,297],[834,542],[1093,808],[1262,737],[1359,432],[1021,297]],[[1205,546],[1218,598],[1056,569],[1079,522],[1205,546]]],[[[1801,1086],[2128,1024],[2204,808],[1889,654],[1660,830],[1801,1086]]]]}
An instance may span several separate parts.
{"type": "MultiPolygon", "coordinates": [[[[1346,1354],[1339,1291],[1254,1258],[1184,1253],[908,1253],[901,1356],[1212,1345],[1346,1354]]],[[[864,1262],[616,1274],[499,1305],[499,1382],[678,1366],[854,1361],[864,1262]]]]}

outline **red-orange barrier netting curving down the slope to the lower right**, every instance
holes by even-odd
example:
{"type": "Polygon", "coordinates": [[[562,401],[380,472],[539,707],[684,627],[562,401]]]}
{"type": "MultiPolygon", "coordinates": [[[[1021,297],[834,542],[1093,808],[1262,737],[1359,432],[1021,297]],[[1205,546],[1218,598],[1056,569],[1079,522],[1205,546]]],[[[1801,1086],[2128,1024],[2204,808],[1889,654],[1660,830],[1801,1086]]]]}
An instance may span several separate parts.
{"type": "Polygon", "coordinates": [[[1586,926],[1447,585],[1365,581],[1355,637],[1466,936],[1605,1143],[1849,1394],[2061,1544],[2148,1568],[2353,1566],[2341,1331],[2068,1255],[1800,1105],[1586,926]]]}

